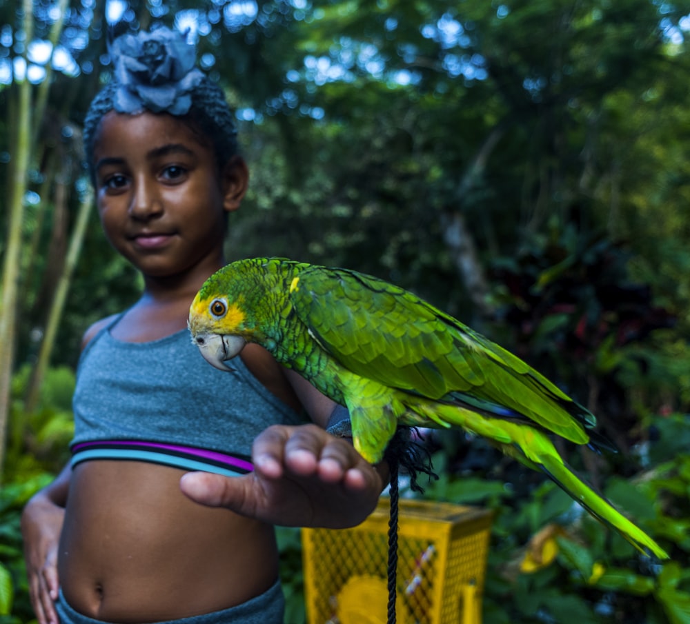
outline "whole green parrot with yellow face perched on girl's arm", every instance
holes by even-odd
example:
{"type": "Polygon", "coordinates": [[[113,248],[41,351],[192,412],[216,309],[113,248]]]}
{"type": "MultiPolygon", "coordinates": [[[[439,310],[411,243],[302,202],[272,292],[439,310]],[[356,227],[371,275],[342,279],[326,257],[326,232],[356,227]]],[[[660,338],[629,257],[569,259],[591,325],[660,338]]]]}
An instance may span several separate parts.
{"type": "Polygon", "coordinates": [[[258,343],[348,408],[353,443],[382,459],[398,425],[460,427],[545,472],[640,551],[667,554],[580,481],[549,434],[597,448],[595,417],[510,352],[373,276],[286,259],[227,265],[204,283],[189,329],[216,368],[258,343]]]}

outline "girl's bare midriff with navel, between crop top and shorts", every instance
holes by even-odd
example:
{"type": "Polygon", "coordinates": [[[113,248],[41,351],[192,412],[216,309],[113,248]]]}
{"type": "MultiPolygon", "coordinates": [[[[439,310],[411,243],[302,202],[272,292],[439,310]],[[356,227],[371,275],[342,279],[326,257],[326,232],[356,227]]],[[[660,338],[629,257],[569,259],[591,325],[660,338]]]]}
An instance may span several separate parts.
{"type": "Polygon", "coordinates": [[[78,612],[156,622],[214,612],[277,578],[273,527],[181,494],[182,470],[137,461],[78,465],[59,550],[59,578],[78,612]]]}

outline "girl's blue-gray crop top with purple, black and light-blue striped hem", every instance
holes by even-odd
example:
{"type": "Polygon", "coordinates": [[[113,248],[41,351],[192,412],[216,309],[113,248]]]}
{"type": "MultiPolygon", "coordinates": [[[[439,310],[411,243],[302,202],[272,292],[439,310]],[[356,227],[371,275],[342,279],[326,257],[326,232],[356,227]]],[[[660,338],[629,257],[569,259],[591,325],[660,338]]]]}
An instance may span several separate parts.
{"type": "Polygon", "coordinates": [[[236,372],[210,366],[187,330],[128,343],[112,337],[112,325],[79,359],[72,465],[134,459],[244,474],[252,442],[268,425],[304,422],[241,358],[233,360],[236,372]]]}

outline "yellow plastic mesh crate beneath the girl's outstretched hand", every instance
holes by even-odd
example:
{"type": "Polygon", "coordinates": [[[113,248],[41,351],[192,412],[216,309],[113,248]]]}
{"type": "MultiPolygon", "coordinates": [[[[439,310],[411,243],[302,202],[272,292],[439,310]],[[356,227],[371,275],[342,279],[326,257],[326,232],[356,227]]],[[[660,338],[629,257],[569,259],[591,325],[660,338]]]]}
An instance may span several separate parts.
{"type": "MultiPolygon", "coordinates": [[[[309,624],[386,624],[388,499],[361,525],[303,529],[309,624]]],[[[491,512],[402,499],[398,624],[481,624],[491,512]]]]}

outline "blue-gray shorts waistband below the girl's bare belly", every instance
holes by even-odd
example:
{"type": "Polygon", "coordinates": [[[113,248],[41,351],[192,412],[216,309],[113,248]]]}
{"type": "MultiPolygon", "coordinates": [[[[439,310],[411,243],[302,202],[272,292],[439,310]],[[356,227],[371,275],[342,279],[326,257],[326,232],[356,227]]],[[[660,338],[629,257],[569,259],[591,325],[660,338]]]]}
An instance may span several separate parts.
{"type": "MultiPolygon", "coordinates": [[[[60,624],[107,624],[76,612],[68,605],[62,591],[55,603],[55,609],[60,618],[60,624]]],[[[280,583],[277,581],[267,592],[241,605],[190,618],[152,624],[283,624],[284,609],[285,598],[280,583]]]]}

